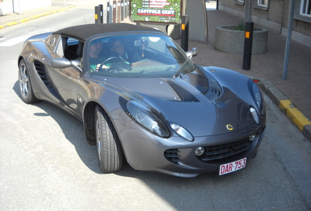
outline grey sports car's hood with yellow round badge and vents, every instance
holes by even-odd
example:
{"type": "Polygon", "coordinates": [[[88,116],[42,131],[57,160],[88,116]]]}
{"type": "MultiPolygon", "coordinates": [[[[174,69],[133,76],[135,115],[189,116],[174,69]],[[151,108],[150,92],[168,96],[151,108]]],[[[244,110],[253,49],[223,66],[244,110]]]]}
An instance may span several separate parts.
{"type": "Polygon", "coordinates": [[[114,89],[119,87],[120,93],[138,96],[160,119],[186,128],[193,136],[229,133],[255,123],[248,104],[200,71],[180,78],[104,80],[114,89]]]}

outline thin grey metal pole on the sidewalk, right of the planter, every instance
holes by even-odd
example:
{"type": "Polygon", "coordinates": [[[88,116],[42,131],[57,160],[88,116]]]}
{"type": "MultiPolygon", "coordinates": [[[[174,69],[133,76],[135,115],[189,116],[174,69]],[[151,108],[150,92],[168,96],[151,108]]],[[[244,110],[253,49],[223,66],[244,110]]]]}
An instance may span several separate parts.
{"type": "Polygon", "coordinates": [[[291,42],[292,20],[294,17],[294,5],[295,5],[295,0],[290,0],[289,22],[287,24],[287,38],[286,38],[284,65],[283,65],[283,77],[282,77],[283,80],[286,80],[287,78],[287,70],[289,67],[289,49],[290,49],[290,42],[291,42]]]}

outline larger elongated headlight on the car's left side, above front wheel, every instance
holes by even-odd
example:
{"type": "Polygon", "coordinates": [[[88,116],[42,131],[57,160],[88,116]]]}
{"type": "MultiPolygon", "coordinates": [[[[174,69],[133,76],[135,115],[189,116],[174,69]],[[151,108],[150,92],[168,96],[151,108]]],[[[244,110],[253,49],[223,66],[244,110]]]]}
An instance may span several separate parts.
{"type": "Polygon", "coordinates": [[[161,120],[146,106],[136,101],[128,101],[123,109],[133,121],[151,133],[160,137],[168,137],[170,135],[161,120]]]}

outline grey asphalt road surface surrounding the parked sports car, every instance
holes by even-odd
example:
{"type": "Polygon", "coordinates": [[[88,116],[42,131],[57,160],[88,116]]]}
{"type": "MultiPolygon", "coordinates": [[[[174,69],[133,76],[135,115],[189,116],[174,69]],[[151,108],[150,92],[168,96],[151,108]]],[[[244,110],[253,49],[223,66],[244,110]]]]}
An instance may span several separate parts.
{"type": "Polygon", "coordinates": [[[17,66],[22,41],[93,17],[93,9],[78,7],[0,31],[1,211],[311,210],[311,144],[267,96],[267,131],[257,157],[242,170],[195,178],[128,164],[102,173],[81,122],[46,102],[24,104],[17,66]]]}

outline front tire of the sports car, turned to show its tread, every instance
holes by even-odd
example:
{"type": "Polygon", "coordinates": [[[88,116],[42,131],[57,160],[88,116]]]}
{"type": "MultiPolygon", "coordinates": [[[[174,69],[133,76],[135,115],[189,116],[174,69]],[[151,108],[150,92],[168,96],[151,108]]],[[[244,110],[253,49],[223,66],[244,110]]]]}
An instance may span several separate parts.
{"type": "Polygon", "coordinates": [[[95,107],[95,139],[99,167],[103,172],[120,170],[123,163],[123,151],[119,137],[104,109],[95,107]]]}

